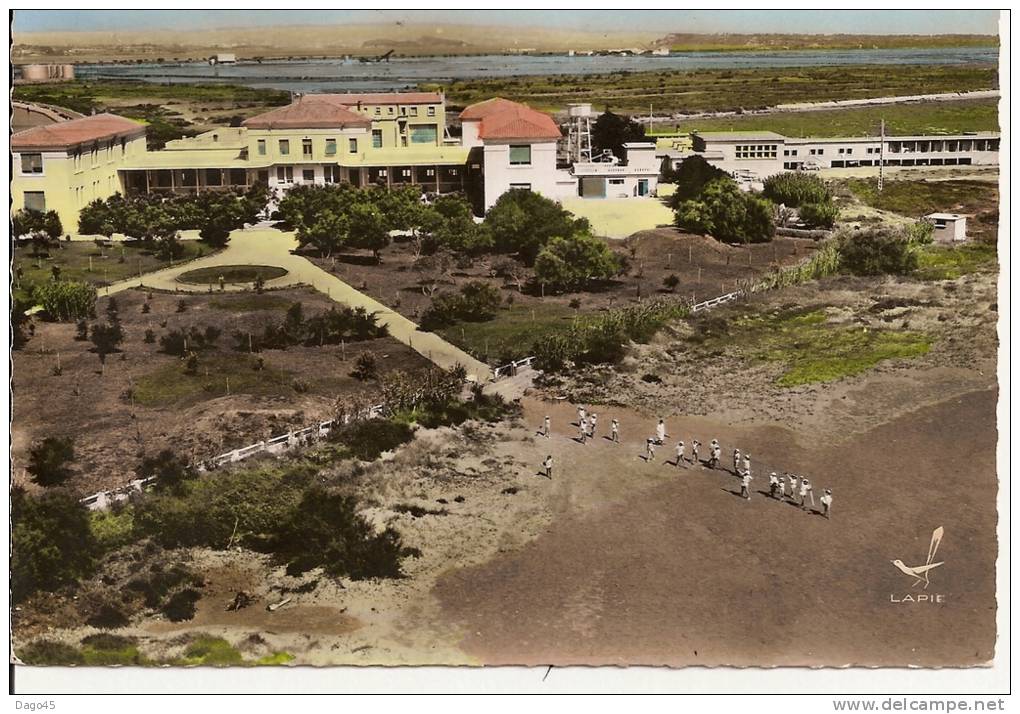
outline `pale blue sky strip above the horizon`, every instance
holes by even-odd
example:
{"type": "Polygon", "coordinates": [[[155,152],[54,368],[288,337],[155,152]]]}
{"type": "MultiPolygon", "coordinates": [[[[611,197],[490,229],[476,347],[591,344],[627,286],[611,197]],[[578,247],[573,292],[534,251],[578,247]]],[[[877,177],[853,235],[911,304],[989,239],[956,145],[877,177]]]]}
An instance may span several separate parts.
{"type": "Polygon", "coordinates": [[[16,10],[14,32],[205,30],[404,21],[577,31],[994,35],[994,10],[16,10]]]}

